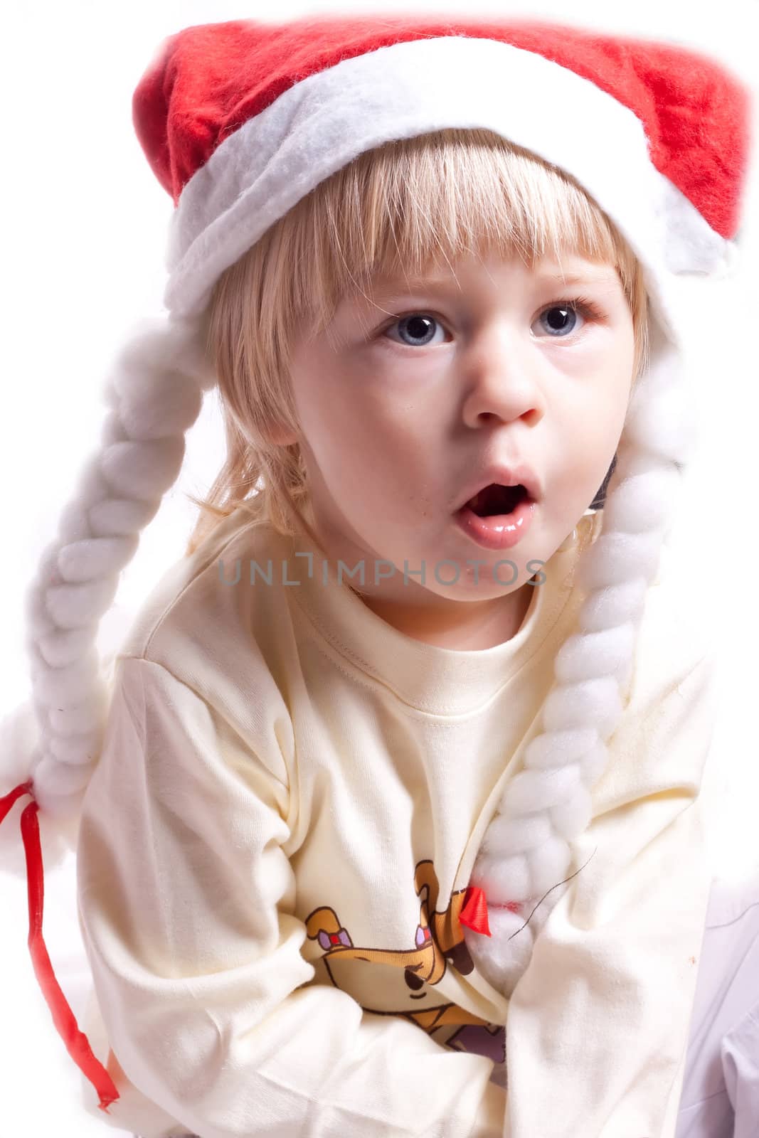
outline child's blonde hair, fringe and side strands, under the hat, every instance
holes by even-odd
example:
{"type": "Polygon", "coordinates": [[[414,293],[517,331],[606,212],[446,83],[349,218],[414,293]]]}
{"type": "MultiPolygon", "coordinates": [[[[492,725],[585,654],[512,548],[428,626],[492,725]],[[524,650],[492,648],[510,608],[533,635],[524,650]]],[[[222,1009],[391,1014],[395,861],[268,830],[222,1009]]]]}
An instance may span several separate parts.
{"type": "Polygon", "coordinates": [[[185,554],[240,506],[281,534],[295,533],[296,517],[305,523],[300,447],[270,434],[273,424],[299,432],[288,381],[294,329],[319,335],[340,299],[376,274],[415,275],[470,254],[531,265],[563,251],[617,269],[635,332],[632,397],[649,355],[642,267],[563,170],[493,131],[449,129],[368,150],[321,182],[214,288],[204,332],[226,459],[205,498],[188,495],[200,517],[185,554]]]}

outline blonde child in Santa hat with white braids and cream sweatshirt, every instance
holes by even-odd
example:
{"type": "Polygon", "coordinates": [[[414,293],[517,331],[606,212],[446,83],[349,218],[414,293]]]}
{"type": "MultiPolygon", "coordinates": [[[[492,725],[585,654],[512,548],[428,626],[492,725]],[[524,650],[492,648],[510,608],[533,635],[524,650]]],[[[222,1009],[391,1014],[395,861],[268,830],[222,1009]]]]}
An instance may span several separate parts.
{"type": "Polygon", "coordinates": [[[38,809],[76,842],[85,1036],[32,942],[72,1056],[145,1138],[673,1136],[713,721],[675,274],[729,263],[745,90],[548,24],[234,20],[133,113],[168,318],[30,593],[5,807],[33,882],[38,809]],[[216,382],[226,461],[102,668],[216,382]]]}

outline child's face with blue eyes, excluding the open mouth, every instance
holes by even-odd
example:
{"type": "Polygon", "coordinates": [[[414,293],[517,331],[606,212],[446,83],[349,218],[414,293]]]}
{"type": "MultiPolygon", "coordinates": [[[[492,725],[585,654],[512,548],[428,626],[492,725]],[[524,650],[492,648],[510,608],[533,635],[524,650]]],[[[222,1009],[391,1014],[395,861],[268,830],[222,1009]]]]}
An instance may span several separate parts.
{"type": "Polygon", "coordinates": [[[561,270],[548,259],[453,269],[411,290],[399,279],[380,295],[376,281],[371,300],[344,298],[328,331],[297,341],[291,374],[313,518],[332,564],[363,559],[365,585],[344,579],[364,597],[440,612],[514,594],[541,568],[528,561],[547,562],[571,531],[613,459],[635,352],[611,265],[566,257],[566,275],[581,275],[571,284],[550,279],[561,270]],[[601,315],[562,308],[577,297],[601,315]],[[527,533],[490,550],[455,513],[498,461],[526,463],[541,494],[527,533]],[[504,560],[517,566],[513,582],[511,566],[494,571],[504,560]],[[443,561],[459,567],[457,583],[443,561]]]}

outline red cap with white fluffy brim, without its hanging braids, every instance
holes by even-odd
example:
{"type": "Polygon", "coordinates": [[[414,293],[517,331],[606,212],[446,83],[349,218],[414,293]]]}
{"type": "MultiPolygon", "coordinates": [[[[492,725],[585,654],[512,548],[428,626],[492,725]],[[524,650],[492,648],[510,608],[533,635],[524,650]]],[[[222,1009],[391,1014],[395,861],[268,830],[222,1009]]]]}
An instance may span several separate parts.
{"type": "Polygon", "coordinates": [[[296,201],[389,139],[488,127],[563,167],[654,292],[666,271],[726,263],[748,160],[748,92],[713,60],[533,22],[200,25],[164,43],[133,115],[176,206],[165,303],[183,316],[296,201]]]}

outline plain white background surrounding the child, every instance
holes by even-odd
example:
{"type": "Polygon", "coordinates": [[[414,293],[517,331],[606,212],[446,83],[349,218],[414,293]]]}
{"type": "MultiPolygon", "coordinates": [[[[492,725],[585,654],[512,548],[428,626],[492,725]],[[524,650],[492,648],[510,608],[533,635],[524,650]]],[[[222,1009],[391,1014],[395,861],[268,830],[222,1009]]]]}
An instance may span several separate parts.
{"type": "MultiPolygon", "coordinates": [[[[759,55],[757,0],[723,0],[719,6],[638,0],[625,6],[629,9],[625,13],[617,7],[608,0],[577,0],[571,6],[558,0],[530,5],[498,0],[475,10],[469,5],[422,2],[416,11],[558,19],[569,13],[570,18],[599,28],[660,35],[706,49],[751,82],[759,55]]],[[[275,7],[199,0],[6,3],[0,68],[6,167],[0,714],[28,694],[20,602],[42,547],[55,536],[81,464],[98,442],[105,372],[132,321],[160,311],[173,205],[133,132],[131,97],[137,82],[160,41],[183,26],[358,10],[377,9],[288,0],[278,0],[275,7]]],[[[401,14],[407,3],[385,3],[381,10],[401,14]]],[[[571,109],[556,113],[566,115],[571,130],[571,109]]],[[[753,155],[741,236],[744,267],[735,282],[712,288],[712,319],[708,327],[701,321],[693,329],[702,442],[671,539],[674,553],[690,567],[687,587],[695,619],[713,628],[724,661],[718,741],[729,769],[731,816],[718,869],[736,881],[759,866],[759,773],[750,726],[758,627],[756,193],[753,155]]],[[[182,494],[204,493],[222,460],[215,396],[208,396],[188,435],[181,479],[145,531],[122,576],[116,604],[104,619],[101,651],[123,635],[140,599],[181,555],[195,517],[182,494]]],[[[0,794],[8,789],[0,783],[0,794]]],[[[18,814],[15,808],[6,824],[17,826],[18,814]]],[[[47,875],[46,884],[46,941],[79,1017],[89,974],[75,917],[73,856],[47,875]]],[[[79,1072],[52,1026],[27,954],[25,883],[6,874],[0,874],[0,1138],[108,1133],[105,1116],[82,1111],[79,1072]]]]}

